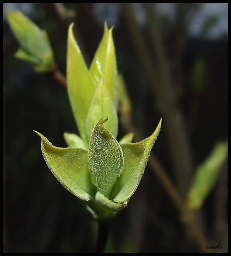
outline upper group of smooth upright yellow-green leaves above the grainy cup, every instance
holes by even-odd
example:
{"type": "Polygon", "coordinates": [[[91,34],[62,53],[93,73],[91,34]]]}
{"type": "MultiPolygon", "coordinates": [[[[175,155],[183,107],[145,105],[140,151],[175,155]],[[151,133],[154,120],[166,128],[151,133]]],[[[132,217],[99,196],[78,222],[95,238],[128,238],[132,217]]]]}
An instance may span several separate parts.
{"type": "Polygon", "coordinates": [[[75,121],[88,147],[95,124],[105,116],[105,128],[116,138],[118,131],[118,74],[112,28],[105,25],[103,38],[88,70],[73,34],[68,30],[67,90],[75,121]]]}

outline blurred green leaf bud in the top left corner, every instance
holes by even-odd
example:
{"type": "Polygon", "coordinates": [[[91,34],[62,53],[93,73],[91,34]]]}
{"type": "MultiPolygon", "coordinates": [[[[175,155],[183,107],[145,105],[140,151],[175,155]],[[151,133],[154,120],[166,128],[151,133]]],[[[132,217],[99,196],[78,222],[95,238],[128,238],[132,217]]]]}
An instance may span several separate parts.
{"type": "Polygon", "coordinates": [[[47,33],[19,11],[11,12],[6,8],[6,14],[21,47],[15,56],[33,64],[37,72],[55,70],[55,60],[47,33]]]}

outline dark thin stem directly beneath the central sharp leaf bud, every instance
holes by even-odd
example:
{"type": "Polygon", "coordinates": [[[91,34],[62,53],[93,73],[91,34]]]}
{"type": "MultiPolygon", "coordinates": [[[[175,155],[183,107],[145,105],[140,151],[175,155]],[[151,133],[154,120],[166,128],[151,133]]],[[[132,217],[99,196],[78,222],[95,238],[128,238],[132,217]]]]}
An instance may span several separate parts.
{"type": "Polygon", "coordinates": [[[109,224],[98,222],[98,237],[97,237],[97,247],[96,253],[102,253],[105,250],[108,236],[109,236],[109,224]]]}

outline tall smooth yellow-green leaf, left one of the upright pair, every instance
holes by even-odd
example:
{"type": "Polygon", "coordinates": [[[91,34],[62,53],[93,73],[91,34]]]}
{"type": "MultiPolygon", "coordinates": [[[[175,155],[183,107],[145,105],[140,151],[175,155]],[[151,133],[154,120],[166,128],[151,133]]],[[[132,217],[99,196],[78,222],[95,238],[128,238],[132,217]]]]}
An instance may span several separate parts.
{"type": "Polygon", "coordinates": [[[67,91],[79,133],[85,145],[88,145],[89,140],[86,137],[85,122],[95,93],[95,85],[92,82],[79,46],[75,42],[73,24],[68,30],[67,91]]]}

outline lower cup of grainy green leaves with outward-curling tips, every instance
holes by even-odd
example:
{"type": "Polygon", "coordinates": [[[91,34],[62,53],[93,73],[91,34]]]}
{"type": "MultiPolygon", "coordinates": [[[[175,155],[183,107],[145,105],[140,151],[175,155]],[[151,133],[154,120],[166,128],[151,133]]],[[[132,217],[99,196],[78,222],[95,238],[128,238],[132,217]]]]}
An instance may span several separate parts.
{"type": "Polygon", "coordinates": [[[108,221],[127,206],[134,194],[158,136],[161,120],[155,132],[137,143],[130,143],[133,134],[127,134],[119,144],[104,127],[101,119],[93,128],[89,150],[75,134],[64,134],[68,148],[53,146],[42,134],[43,157],[55,178],[76,197],[98,221],[108,221]]]}

